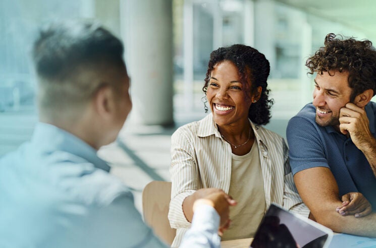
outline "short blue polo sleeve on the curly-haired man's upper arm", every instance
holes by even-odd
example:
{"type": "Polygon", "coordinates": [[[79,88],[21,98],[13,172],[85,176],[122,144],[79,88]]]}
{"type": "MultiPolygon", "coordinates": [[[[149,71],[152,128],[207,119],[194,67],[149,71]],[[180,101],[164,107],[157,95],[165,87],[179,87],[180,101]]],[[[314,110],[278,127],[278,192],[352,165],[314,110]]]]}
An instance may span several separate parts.
{"type": "Polygon", "coordinates": [[[306,118],[295,116],[287,126],[290,166],[293,175],[313,167],[329,168],[324,144],[317,129],[306,118]]]}

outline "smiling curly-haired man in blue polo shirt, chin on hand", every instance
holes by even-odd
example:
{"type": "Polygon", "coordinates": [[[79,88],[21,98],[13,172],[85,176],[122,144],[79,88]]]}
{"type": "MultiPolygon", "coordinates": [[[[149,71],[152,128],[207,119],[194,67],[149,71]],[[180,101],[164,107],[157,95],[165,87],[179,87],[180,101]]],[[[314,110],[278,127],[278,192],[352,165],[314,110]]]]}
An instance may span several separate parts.
{"type": "Polygon", "coordinates": [[[376,50],[328,34],[306,66],[316,74],[313,102],[287,127],[296,187],[310,218],[376,236],[376,50]]]}

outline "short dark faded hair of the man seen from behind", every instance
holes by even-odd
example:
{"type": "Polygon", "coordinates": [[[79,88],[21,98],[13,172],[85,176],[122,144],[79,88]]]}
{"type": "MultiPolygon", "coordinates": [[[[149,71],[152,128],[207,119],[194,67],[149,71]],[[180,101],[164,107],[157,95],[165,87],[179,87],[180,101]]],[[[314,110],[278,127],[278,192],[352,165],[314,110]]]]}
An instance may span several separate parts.
{"type": "Polygon", "coordinates": [[[39,110],[47,115],[69,110],[88,102],[104,83],[118,87],[119,82],[92,79],[125,68],[123,52],[122,42],[95,23],[75,21],[42,29],[32,54],[39,110]]]}

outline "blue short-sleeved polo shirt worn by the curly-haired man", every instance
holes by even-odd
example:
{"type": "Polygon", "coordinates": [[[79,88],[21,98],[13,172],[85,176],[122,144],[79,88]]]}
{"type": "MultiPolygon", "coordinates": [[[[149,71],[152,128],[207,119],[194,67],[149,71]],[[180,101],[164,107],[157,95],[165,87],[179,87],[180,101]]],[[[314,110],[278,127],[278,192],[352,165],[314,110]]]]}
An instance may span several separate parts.
{"type": "MultiPolygon", "coordinates": [[[[365,106],[369,129],[376,138],[376,103],[365,106]]],[[[339,193],[360,192],[376,209],[376,177],[364,154],[351,138],[332,126],[320,127],[315,121],[316,109],[305,105],[287,126],[292,173],[313,167],[327,167],[336,178],[339,193]]]]}

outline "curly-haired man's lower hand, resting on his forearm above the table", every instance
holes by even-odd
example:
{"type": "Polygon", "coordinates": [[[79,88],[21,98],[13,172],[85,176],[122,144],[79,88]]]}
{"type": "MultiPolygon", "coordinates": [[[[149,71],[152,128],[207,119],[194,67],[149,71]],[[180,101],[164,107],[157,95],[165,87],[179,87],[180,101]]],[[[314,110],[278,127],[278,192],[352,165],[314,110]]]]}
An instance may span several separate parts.
{"type": "Polygon", "coordinates": [[[336,211],[342,216],[355,215],[360,218],[370,214],[372,207],[361,193],[351,192],[342,196],[342,206],[337,207],[336,211]]]}

